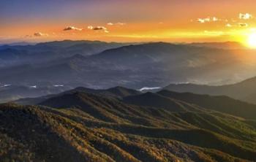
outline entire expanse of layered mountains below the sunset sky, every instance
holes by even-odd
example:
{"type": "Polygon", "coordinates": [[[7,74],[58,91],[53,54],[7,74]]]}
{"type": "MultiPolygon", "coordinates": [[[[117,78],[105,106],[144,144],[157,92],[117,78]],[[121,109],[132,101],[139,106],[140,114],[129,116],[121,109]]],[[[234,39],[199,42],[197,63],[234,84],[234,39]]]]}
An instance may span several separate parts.
{"type": "Polygon", "coordinates": [[[255,57],[236,42],[0,46],[0,161],[256,161],[255,57]]]}

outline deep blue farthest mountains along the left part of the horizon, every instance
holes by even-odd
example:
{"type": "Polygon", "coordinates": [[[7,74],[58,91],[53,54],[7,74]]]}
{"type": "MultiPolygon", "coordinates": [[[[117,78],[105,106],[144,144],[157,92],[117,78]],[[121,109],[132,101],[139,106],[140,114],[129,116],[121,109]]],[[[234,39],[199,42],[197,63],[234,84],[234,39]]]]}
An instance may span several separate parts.
{"type": "Polygon", "coordinates": [[[99,42],[99,41],[55,41],[44,42],[36,45],[4,45],[0,47],[0,59],[4,61],[15,61],[20,63],[34,63],[35,61],[49,61],[56,58],[64,58],[80,53],[81,55],[92,55],[110,48],[121,47],[122,43],[99,42]]]}

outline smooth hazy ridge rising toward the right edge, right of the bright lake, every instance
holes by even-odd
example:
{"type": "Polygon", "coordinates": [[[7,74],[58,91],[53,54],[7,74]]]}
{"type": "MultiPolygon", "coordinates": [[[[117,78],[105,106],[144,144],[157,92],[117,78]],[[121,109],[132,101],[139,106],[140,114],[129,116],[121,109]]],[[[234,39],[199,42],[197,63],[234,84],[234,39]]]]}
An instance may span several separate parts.
{"type": "Polygon", "coordinates": [[[195,84],[170,84],[165,89],[177,92],[192,92],[209,95],[225,95],[234,99],[256,103],[256,77],[238,82],[233,85],[195,85],[195,84]]]}

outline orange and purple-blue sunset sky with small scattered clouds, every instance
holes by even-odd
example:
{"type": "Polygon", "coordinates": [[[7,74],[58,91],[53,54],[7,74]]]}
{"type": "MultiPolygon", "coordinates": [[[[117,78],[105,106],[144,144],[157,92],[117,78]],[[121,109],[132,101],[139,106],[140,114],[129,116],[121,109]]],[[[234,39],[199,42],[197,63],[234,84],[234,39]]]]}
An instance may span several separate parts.
{"type": "Polygon", "coordinates": [[[256,39],[255,6],[255,0],[0,0],[0,43],[248,43],[256,39]]]}

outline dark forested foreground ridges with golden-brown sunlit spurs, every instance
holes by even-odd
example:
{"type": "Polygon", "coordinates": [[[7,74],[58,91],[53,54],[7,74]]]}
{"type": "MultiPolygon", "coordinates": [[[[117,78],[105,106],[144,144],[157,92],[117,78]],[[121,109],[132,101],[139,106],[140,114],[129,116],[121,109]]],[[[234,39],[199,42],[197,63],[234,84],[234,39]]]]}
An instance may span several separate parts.
{"type": "Polygon", "coordinates": [[[172,94],[77,88],[35,106],[1,104],[0,159],[256,161],[256,120],[172,94]]]}

